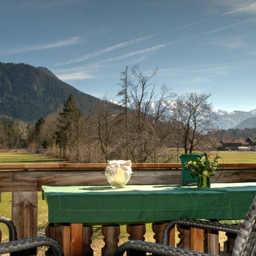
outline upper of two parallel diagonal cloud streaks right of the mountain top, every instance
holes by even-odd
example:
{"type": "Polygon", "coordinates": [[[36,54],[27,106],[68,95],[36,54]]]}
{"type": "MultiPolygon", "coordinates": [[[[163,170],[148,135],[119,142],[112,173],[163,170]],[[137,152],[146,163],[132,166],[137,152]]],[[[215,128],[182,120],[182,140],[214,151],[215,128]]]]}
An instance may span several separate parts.
{"type": "Polygon", "coordinates": [[[134,40],[130,40],[130,41],[127,41],[127,42],[124,42],[124,43],[116,44],[116,45],[113,45],[111,47],[101,49],[99,51],[95,51],[95,52],[92,52],[92,53],[89,53],[89,54],[85,54],[84,56],[81,56],[79,58],[75,58],[75,59],[67,61],[67,62],[57,63],[54,66],[68,65],[68,64],[71,64],[71,63],[77,63],[77,62],[81,62],[81,61],[84,61],[84,60],[88,60],[89,58],[97,57],[101,54],[111,52],[111,51],[115,51],[116,49],[125,48],[125,47],[129,47],[130,45],[141,43],[145,39],[150,38],[151,36],[152,35],[144,36],[144,37],[137,38],[137,39],[134,39],[134,40]]]}

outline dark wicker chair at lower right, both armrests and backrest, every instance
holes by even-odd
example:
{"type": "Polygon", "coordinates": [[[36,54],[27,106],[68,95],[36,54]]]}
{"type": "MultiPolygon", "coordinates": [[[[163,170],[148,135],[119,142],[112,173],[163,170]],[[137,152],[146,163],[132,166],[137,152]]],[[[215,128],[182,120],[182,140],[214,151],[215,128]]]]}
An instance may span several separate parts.
{"type": "Polygon", "coordinates": [[[256,255],[256,197],[253,200],[249,212],[246,214],[243,224],[238,227],[209,221],[199,221],[191,219],[173,220],[166,225],[162,235],[162,244],[149,243],[146,241],[130,240],[121,244],[116,249],[114,256],[124,255],[126,250],[137,250],[139,252],[152,253],[154,255],[172,256],[210,256],[208,253],[198,253],[191,250],[179,249],[168,245],[170,241],[170,231],[176,225],[197,227],[216,231],[224,231],[237,234],[232,256],[253,256],[256,255]]]}

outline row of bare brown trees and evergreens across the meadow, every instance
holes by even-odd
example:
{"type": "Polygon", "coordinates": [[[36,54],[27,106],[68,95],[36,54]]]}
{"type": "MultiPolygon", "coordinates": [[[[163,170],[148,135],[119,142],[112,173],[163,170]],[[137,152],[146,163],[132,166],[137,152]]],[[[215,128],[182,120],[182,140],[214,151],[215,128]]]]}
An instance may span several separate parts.
{"type": "Polygon", "coordinates": [[[89,112],[70,94],[61,111],[28,126],[29,143],[73,162],[176,162],[181,152],[216,147],[210,94],[177,95],[165,85],[157,94],[157,71],[126,67],[118,92],[122,106],[105,97],[89,112]]]}

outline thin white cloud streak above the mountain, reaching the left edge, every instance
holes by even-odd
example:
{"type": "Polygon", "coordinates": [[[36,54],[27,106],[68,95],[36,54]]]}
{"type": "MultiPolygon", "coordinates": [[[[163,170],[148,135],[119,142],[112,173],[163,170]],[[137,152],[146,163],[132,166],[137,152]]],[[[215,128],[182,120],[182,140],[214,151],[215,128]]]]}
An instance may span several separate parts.
{"type": "Polygon", "coordinates": [[[79,42],[79,36],[74,36],[72,38],[68,38],[66,40],[61,40],[57,42],[47,43],[47,44],[39,44],[39,45],[26,45],[17,47],[15,49],[4,49],[2,50],[2,54],[13,54],[13,53],[22,53],[22,52],[34,52],[34,51],[43,51],[53,48],[64,47],[67,45],[75,44],[79,42]]]}

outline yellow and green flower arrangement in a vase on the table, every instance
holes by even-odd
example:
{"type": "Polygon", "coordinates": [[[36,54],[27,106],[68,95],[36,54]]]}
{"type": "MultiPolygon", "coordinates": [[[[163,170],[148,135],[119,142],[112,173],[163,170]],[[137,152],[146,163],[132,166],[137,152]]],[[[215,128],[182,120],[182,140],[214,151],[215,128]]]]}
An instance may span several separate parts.
{"type": "MultiPolygon", "coordinates": [[[[194,161],[185,162],[185,168],[190,170],[192,176],[203,177],[203,186],[207,186],[207,177],[213,176],[218,168],[217,159],[218,156],[214,157],[211,161],[207,153],[204,153],[202,158],[197,157],[194,161]]],[[[209,186],[208,186],[209,187],[209,186]]]]}

